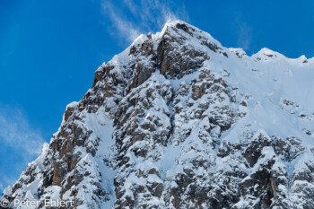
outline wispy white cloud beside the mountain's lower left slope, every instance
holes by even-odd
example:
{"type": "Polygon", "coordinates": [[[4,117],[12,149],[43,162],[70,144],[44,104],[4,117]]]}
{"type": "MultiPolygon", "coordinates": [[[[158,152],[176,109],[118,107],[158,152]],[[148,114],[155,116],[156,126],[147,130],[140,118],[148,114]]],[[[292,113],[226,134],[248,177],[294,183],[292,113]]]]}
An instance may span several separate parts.
{"type": "Polygon", "coordinates": [[[44,139],[21,108],[0,104],[0,192],[12,185],[41,151],[44,139]]]}

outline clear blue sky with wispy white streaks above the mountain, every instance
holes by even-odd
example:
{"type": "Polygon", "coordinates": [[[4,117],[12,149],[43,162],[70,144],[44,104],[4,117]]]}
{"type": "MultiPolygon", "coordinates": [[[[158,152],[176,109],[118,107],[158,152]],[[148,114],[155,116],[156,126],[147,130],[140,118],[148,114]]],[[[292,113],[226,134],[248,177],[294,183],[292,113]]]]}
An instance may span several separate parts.
{"type": "Polygon", "coordinates": [[[181,19],[249,55],[314,56],[314,1],[1,0],[0,190],[57,131],[66,104],[138,34],[181,19]]]}

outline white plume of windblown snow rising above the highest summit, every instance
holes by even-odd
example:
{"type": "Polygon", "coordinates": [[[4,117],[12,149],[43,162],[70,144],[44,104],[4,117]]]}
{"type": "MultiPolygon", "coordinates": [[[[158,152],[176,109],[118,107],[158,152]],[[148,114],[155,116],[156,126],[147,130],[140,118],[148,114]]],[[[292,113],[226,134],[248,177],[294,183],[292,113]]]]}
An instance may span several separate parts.
{"type": "Polygon", "coordinates": [[[152,29],[161,30],[165,22],[177,19],[188,21],[184,4],[165,0],[104,0],[102,9],[112,23],[111,34],[127,42],[152,29]]]}

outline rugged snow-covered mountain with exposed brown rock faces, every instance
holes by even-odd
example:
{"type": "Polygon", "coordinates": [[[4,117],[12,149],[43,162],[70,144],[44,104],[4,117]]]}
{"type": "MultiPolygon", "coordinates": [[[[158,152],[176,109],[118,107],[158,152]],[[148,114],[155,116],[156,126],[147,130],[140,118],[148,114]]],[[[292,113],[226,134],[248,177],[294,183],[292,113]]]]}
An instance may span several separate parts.
{"type": "Polygon", "coordinates": [[[314,58],[267,48],[249,57],[168,22],[100,66],[2,199],[12,208],[45,199],[79,209],[314,208],[313,78],[314,58]]]}

